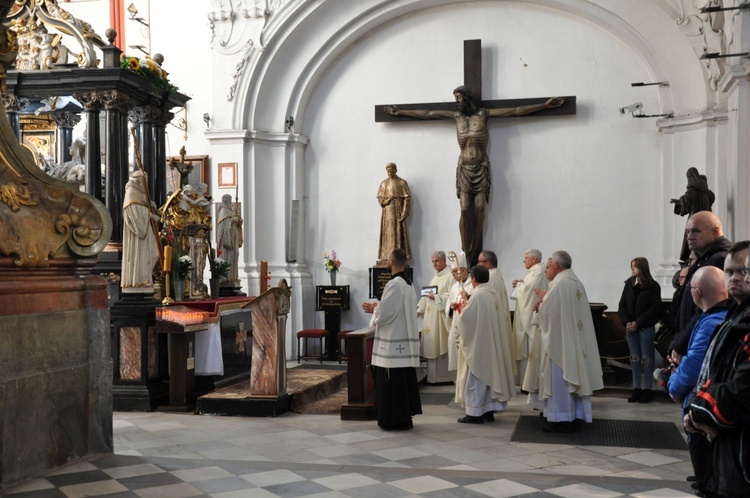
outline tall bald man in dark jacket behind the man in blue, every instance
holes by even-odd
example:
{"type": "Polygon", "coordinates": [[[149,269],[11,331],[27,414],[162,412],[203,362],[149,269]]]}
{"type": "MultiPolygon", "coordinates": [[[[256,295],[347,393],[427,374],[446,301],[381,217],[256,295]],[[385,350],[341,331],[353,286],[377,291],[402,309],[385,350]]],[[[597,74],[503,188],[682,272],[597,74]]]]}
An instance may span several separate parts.
{"type": "Polygon", "coordinates": [[[672,349],[678,355],[684,355],[687,352],[695,317],[700,314],[699,308],[693,301],[693,296],[688,291],[690,281],[699,268],[715,266],[723,269],[724,258],[732,246],[732,243],[724,237],[721,220],[711,211],[699,211],[688,219],[685,226],[685,238],[688,248],[695,253],[697,259],[688,270],[685,285],[675,295],[679,307],[675,317],[675,330],[677,332],[674,341],[672,341],[672,349]]]}

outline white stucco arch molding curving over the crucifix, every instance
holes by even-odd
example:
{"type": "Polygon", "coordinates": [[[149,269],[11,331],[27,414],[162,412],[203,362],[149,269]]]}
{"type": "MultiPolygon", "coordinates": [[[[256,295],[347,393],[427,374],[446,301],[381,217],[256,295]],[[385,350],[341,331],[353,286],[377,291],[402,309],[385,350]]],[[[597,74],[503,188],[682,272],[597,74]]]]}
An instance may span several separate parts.
{"type": "MultiPolygon", "coordinates": [[[[286,64],[288,67],[284,72],[285,78],[294,78],[293,87],[289,92],[288,100],[278,102],[275,105],[274,115],[293,116],[297,123],[304,122],[304,114],[308,99],[314,92],[320,79],[327,73],[329,67],[335,63],[337,58],[345,50],[350,48],[356,41],[367,33],[374,31],[382,25],[406,15],[413,15],[420,10],[434,9],[442,5],[474,3],[474,0],[390,0],[375,1],[362,0],[358,2],[337,2],[336,17],[315,12],[318,9],[332,8],[331,0],[319,2],[292,1],[285,6],[278,16],[273,16],[263,32],[263,40],[266,43],[265,51],[260,53],[246,46],[243,58],[237,63],[236,71],[232,75],[234,83],[230,91],[229,100],[232,105],[233,126],[247,127],[253,129],[263,128],[257,114],[259,102],[268,102],[264,95],[266,91],[273,91],[278,82],[273,84],[270,79],[278,78],[278,71],[270,68],[278,64],[286,64]],[[313,15],[315,14],[315,15],[313,15]],[[326,24],[322,25],[321,22],[326,24]],[[335,24],[338,22],[339,24],[335,24]],[[299,30],[301,34],[296,34],[299,30]],[[314,41],[319,48],[312,53],[311,57],[301,60],[290,59],[291,46],[299,46],[301,40],[298,36],[315,33],[319,39],[314,41]],[[284,109],[281,109],[284,106],[284,109]]],[[[666,54],[657,53],[649,37],[653,26],[645,29],[641,24],[648,24],[648,19],[638,16],[633,9],[620,4],[611,4],[599,0],[598,2],[585,0],[528,0],[523,4],[536,4],[546,6],[562,12],[573,14],[586,19],[603,30],[609,32],[620,41],[631,47],[634,53],[643,61],[644,67],[652,75],[654,81],[668,81],[670,76],[679,80],[676,71],[684,71],[678,67],[665,67],[670,64],[670,57],[666,54]],[[597,5],[599,4],[599,5],[597,5]],[[642,30],[642,31],[640,31],[642,30]]],[[[662,2],[655,2],[662,4],[662,2]]],[[[663,5],[657,7],[668,15],[675,15],[675,9],[665,8],[663,5]]],[[[327,11],[325,11],[327,13],[327,11]]],[[[692,58],[692,56],[691,56],[692,58]]],[[[278,69],[278,66],[276,66],[278,69]]],[[[700,67],[696,60],[695,68],[700,67]]],[[[706,81],[708,78],[706,77],[706,81]]],[[[291,82],[289,82],[291,83],[291,82]]],[[[707,96],[708,84],[703,89],[704,95],[702,105],[691,106],[693,109],[706,108],[708,100],[713,102],[713,96],[707,96]]],[[[659,92],[661,108],[665,112],[675,110],[675,89],[661,87],[655,89],[659,92]]],[[[691,90],[694,92],[694,90],[691,90]]],[[[278,95],[276,95],[278,101],[278,95]]],[[[694,97],[694,95],[693,95],[694,97]]],[[[273,123],[274,127],[282,126],[273,123]]],[[[265,126],[267,127],[267,125],[265,126]]],[[[296,131],[304,133],[305,130],[296,131]]]]}

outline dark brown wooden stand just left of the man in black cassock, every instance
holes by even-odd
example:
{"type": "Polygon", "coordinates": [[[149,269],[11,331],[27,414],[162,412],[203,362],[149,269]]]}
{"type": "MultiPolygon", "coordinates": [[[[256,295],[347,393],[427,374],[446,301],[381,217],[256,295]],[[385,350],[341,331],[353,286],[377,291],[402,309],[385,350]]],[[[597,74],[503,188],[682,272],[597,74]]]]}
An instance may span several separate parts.
{"type": "Polygon", "coordinates": [[[346,336],[347,404],[341,407],[341,420],[375,419],[375,377],[370,362],[375,327],[367,327],[346,336]]]}

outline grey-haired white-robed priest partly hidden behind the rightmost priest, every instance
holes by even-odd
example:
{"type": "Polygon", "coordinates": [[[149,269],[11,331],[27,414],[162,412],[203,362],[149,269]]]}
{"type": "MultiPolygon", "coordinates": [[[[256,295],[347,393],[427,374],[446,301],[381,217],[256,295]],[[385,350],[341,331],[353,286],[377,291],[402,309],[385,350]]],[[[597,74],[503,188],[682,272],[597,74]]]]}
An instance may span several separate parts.
{"type": "Polygon", "coordinates": [[[528,270],[523,280],[513,281],[511,299],[516,301],[516,311],[513,314],[513,335],[516,338],[516,358],[518,358],[518,378],[521,387],[529,393],[536,393],[539,388],[539,351],[541,342],[539,337],[539,320],[535,317],[534,307],[539,298],[534,289],[547,290],[547,275],[544,273],[542,253],[538,249],[530,249],[523,255],[523,265],[528,270]],[[536,341],[534,338],[536,337],[536,341]],[[536,351],[532,351],[532,344],[536,351]],[[531,384],[527,387],[526,376],[531,384]]]}

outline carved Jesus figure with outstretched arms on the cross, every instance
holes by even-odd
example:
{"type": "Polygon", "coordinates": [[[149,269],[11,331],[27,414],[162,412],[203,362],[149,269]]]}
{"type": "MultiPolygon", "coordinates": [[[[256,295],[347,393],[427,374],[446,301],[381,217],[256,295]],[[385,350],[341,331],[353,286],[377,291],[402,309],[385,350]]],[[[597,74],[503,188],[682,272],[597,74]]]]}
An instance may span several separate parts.
{"type": "Polygon", "coordinates": [[[478,106],[465,86],[453,90],[458,109],[456,111],[399,109],[389,105],[383,108],[392,116],[408,116],[417,119],[453,119],[456,121],[458,156],[456,169],[456,195],[461,205],[461,244],[468,261],[476,264],[482,248],[482,229],[487,201],[490,198],[490,160],[487,157],[489,129],[487,121],[492,117],[525,116],[543,109],[560,107],[564,99],[552,97],[543,104],[520,107],[484,108],[478,106]]]}

